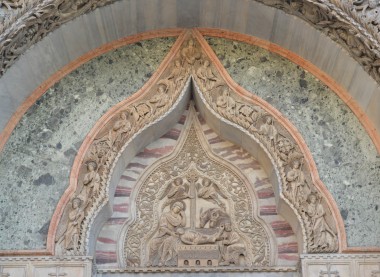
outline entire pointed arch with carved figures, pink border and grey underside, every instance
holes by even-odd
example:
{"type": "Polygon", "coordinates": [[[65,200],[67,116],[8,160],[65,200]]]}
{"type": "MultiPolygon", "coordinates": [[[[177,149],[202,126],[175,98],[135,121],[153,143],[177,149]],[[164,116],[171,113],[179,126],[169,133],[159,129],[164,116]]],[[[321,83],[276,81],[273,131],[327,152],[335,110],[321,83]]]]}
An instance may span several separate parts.
{"type": "Polygon", "coordinates": [[[265,101],[237,86],[201,34],[193,31],[179,37],[149,84],[106,114],[82,145],[73,166],[75,177],[54,215],[61,219],[51,226],[56,255],[93,253],[126,156],[134,156],[176,122],[188,103],[190,82],[197,109],[209,125],[264,163],[277,184],[280,213],[302,238],[300,252],[342,249],[342,219],[298,132],[265,101]]]}

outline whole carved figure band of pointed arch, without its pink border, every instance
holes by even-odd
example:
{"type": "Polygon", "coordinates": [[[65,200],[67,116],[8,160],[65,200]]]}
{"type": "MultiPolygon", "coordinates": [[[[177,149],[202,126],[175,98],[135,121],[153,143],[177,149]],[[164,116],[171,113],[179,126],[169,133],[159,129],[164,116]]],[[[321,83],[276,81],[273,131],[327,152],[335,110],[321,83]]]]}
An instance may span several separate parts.
{"type": "MultiPolygon", "coordinates": [[[[203,38],[198,36],[198,39],[203,38]]],[[[262,102],[247,101],[229,87],[207,56],[210,51],[201,49],[201,44],[205,45],[204,41],[200,43],[193,38],[183,43],[156,84],[113,115],[97,133],[84,154],[76,191],[56,233],[58,254],[77,255],[87,251],[90,223],[108,201],[107,186],[119,153],[144,126],[146,128],[176,105],[190,75],[200,88],[199,95],[207,108],[220,120],[249,134],[270,156],[279,173],[281,197],[293,209],[303,229],[305,251],[338,250],[337,224],[327,200],[313,182],[303,150],[278,116],[271,114],[262,102]]],[[[207,178],[214,183],[217,181],[212,176],[207,178]]],[[[136,263],[146,264],[147,260],[136,263]]]]}

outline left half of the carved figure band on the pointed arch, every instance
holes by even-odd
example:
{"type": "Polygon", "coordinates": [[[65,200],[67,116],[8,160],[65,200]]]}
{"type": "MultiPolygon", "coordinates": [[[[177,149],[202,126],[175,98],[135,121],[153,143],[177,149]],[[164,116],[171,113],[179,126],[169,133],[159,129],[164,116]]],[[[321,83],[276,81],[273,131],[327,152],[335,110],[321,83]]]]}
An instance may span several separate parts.
{"type": "Polygon", "coordinates": [[[92,142],[77,189],[56,233],[57,253],[85,252],[85,232],[92,215],[107,200],[108,176],[117,154],[137,132],[172,107],[189,78],[189,65],[181,55],[187,48],[185,45],[179,51],[147,95],[119,112],[92,142]]]}

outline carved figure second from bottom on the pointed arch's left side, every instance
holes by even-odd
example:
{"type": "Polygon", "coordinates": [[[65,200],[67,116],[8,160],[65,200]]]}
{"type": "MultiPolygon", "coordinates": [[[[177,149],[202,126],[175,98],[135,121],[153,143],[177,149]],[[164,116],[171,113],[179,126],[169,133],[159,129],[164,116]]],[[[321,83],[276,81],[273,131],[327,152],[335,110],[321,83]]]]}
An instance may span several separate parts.
{"type": "Polygon", "coordinates": [[[97,163],[95,161],[89,161],[87,163],[87,173],[83,178],[83,187],[78,194],[78,198],[84,203],[84,208],[87,207],[93,197],[99,195],[100,176],[96,169],[97,163]]]}

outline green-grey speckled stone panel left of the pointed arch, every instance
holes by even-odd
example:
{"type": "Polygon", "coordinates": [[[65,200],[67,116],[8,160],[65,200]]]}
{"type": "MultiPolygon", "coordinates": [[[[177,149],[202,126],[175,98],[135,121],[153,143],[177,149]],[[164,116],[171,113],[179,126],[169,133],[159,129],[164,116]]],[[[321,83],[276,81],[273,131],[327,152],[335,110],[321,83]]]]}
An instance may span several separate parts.
{"type": "Polygon", "coordinates": [[[174,41],[141,41],[95,58],[28,110],[0,156],[0,249],[45,248],[49,220],[86,134],[149,79],[174,41]]]}

